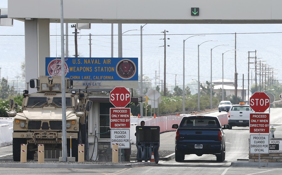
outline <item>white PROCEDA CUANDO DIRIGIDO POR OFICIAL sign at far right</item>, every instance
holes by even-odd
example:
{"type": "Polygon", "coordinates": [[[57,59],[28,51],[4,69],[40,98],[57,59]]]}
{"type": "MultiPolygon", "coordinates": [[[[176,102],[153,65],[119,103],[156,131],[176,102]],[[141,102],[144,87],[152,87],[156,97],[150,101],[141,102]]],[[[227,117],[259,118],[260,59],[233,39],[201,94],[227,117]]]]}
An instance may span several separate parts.
{"type": "Polygon", "coordinates": [[[269,154],[269,135],[250,135],[251,154],[269,154]]]}

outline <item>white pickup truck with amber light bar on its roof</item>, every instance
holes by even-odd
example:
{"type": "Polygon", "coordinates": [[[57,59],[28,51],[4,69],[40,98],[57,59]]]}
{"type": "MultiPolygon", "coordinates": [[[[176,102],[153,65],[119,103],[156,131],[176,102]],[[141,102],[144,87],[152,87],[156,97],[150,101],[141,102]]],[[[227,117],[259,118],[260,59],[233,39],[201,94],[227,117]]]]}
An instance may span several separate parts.
{"type": "Polygon", "coordinates": [[[249,126],[250,114],[255,113],[249,105],[245,103],[230,105],[228,112],[228,125],[232,126],[249,126]]]}

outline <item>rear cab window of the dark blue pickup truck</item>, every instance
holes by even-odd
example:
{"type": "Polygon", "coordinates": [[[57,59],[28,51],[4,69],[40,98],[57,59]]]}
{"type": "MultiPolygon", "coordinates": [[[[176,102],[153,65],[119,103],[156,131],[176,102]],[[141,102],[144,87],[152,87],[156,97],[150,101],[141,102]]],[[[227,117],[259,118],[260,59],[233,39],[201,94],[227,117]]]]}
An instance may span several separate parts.
{"type": "Polygon", "coordinates": [[[215,119],[207,118],[187,118],[180,123],[181,128],[219,128],[218,126],[215,119]]]}

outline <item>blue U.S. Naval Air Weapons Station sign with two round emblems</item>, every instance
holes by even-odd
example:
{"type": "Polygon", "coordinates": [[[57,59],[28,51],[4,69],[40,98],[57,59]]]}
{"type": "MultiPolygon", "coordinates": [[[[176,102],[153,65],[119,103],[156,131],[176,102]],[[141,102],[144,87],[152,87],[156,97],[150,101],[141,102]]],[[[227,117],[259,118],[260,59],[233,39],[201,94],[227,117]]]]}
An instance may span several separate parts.
{"type": "MultiPolygon", "coordinates": [[[[48,76],[61,76],[61,59],[47,57],[48,76]]],[[[75,88],[138,87],[138,58],[65,58],[65,77],[74,80],[75,88]]]]}

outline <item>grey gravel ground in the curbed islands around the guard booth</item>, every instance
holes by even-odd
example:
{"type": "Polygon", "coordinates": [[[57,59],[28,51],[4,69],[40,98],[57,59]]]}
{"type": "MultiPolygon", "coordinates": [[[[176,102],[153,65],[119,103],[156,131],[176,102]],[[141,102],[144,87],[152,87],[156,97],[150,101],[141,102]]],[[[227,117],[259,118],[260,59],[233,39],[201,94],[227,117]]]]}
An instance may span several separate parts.
{"type": "MultiPolygon", "coordinates": [[[[174,153],[175,151],[159,151],[159,157],[166,157],[170,154],[174,153]]],[[[137,150],[132,150],[130,157],[136,157],[137,150]]],[[[20,162],[13,162],[13,161],[2,161],[1,158],[13,158],[13,155],[7,155],[0,157],[0,163],[20,163],[20,162]]],[[[28,160],[26,163],[38,163],[37,160],[28,160]]],[[[111,161],[85,161],[85,162],[58,162],[58,161],[45,161],[45,163],[63,163],[63,164],[100,164],[100,165],[121,165],[121,164],[128,164],[128,163],[135,163],[135,162],[118,162],[113,163],[111,161]]],[[[136,162],[140,163],[140,162],[136,162]]]]}

